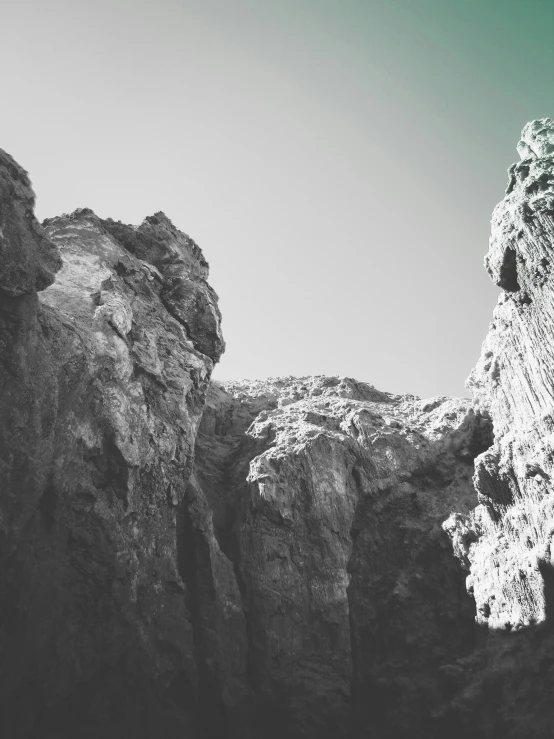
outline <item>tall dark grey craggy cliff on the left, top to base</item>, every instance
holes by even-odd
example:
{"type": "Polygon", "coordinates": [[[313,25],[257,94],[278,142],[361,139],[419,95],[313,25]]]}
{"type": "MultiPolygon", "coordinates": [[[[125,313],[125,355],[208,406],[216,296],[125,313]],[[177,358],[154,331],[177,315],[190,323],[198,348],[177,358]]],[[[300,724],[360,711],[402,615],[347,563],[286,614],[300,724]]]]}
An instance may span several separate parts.
{"type": "Polygon", "coordinates": [[[223,349],[207,263],[161,213],[42,228],[4,152],[0,188],[0,733],[189,735],[178,522],[223,349]]]}

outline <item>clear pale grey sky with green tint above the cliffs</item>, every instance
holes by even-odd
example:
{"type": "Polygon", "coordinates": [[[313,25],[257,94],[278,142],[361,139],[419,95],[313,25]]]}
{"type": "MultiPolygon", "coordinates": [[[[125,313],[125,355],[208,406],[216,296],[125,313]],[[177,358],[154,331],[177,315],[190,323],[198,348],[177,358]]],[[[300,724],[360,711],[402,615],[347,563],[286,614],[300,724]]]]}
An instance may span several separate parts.
{"type": "Polygon", "coordinates": [[[163,210],[201,246],[214,378],[468,395],[553,27],[554,0],[3,0],[0,147],[41,220],[163,210]]]}

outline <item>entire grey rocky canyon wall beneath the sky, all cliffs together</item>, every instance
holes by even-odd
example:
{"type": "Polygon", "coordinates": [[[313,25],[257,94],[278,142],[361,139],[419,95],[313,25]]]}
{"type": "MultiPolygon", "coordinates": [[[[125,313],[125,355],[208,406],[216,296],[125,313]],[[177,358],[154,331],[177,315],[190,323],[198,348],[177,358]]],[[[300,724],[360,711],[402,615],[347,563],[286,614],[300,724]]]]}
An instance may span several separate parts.
{"type": "Polygon", "coordinates": [[[518,150],[473,401],[210,383],[199,247],[41,226],[0,153],[2,736],[554,735],[554,122],[518,150]]]}

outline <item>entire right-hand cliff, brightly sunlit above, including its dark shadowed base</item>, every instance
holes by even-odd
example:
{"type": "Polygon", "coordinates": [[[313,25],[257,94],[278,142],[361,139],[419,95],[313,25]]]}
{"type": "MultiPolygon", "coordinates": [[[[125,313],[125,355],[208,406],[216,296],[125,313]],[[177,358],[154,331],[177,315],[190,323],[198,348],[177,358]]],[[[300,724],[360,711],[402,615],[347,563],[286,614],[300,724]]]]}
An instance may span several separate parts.
{"type": "Polygon", "coordinates": [[[475,464],[480,505],[446,525],[488,636],[443,715],[464,735],[523,739],[554,736],[554,121],[529,123],[517,148],[485,261],[503,292],[468,381],[494,445],[475,464]]]}

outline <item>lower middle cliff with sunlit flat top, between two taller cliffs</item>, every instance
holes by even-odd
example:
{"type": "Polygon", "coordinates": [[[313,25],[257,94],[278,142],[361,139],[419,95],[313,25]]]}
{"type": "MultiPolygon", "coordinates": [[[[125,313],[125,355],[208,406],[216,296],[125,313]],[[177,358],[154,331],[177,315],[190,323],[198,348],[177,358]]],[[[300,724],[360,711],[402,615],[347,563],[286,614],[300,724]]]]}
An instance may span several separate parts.
{"type": "Polygon", "coordinates": [[[191,523],[197,589],[212,592],[204,649],[228,710],[233,691],[254,707],[256,736],[432,730],[475,636],[442,523],[474,506],[489,444],[466,400],[347,378],[212,385],[192,484],[212,512],[191,523]],[[216,647],[231,629],[234,660],[216,647]]]}

